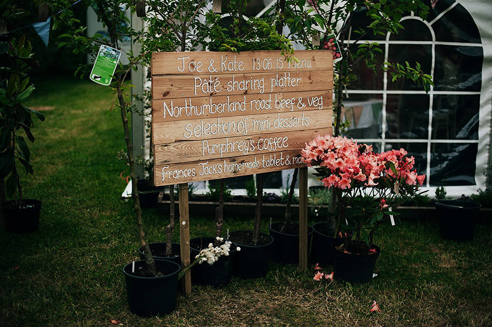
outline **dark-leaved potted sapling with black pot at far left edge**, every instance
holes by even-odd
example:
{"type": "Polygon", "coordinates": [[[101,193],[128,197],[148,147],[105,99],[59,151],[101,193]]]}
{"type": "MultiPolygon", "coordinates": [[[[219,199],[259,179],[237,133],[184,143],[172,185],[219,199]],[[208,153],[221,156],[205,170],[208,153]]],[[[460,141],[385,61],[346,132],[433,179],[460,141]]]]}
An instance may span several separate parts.
{"type": "Polygon", "coordinates": [[[34,90],[29,72],[39,66],[24,34],[19,39],[0,42],[0,197],[5,227],[11,232],[39,229],[42,202],[24,199],[20,167],[26,175],[34,172],[28,142],[34,142],[33,116],[44,121],[43,114],[25,107],[22,102],[34,90]],[[27,140],[24,138],[27,137],[27,140]],[[19,165],[20,164],[20,165],[19,165]],[[14,198],[5,201],[8,198],[14,198]]]}

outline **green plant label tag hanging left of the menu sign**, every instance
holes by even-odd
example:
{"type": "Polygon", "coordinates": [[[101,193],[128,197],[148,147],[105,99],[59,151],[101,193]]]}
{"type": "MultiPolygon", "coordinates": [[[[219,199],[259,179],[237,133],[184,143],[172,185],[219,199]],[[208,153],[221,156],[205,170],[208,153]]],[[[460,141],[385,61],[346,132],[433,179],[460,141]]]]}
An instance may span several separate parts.
{"type": "Polygon", "coordinates": [[[108,46],[101,46],[92,67],[91,80],[101,85],[111,84],[120,56],[121,51],[108,46]]]}

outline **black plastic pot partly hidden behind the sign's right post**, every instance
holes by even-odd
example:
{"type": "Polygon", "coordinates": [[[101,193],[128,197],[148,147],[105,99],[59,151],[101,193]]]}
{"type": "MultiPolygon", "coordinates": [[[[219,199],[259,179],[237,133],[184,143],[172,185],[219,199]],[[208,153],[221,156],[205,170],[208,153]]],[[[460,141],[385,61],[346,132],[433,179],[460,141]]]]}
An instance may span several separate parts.
{"type": "MultiPolygon", "coordinates": [[[[268,227],[269,233],[273,236],[275,242],[273,243],[272,260],[280,264],[299,264],[299,233],[288,234],[280,232],[283,222],[273,223],[268,227]]],[[[292,223],[297,226],[298,223],[292,223]]],[[[311,237],[313,235],[313,228],[308,226],[308,252],[309,245],[311,244],[311,237]]]]}

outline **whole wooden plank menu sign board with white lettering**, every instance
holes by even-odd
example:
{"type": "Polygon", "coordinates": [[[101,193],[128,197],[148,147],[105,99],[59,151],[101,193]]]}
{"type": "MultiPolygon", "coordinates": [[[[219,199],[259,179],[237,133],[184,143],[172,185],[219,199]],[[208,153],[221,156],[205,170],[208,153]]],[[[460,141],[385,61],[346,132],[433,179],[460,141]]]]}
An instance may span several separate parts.
{"type": "Polygon", "coordinates": [[[333,55],[296,51],[152,54],[155,185],[305,166],[331,134],[333,55]]]}

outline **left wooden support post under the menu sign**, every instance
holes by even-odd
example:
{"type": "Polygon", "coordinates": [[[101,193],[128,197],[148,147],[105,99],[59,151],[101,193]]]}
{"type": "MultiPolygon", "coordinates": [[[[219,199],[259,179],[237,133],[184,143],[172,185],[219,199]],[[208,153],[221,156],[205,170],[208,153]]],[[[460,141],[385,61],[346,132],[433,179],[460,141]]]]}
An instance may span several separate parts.
{"type": "MultiPolygon", "coordinates": [[[[179,196],[179,242],[181,245],[181,268],[185,269],[190,261],[190,215],[188,207],[188,183],[178,185],[179,196]]],[[[191,295],[191,272],[182,277],[182,292],[185,296],[191,295]]]]}

